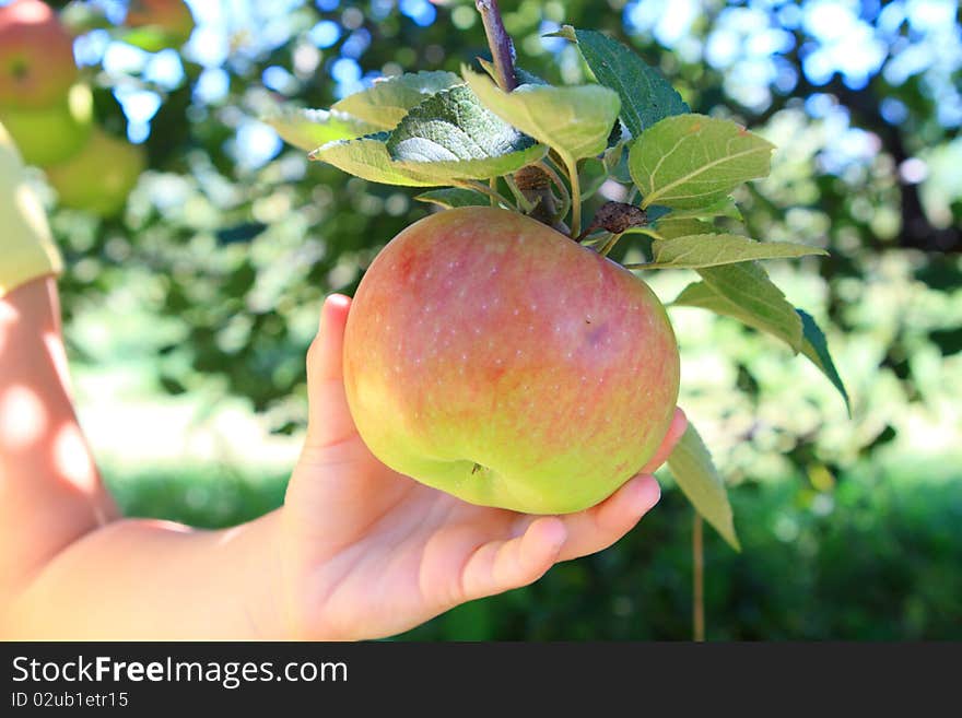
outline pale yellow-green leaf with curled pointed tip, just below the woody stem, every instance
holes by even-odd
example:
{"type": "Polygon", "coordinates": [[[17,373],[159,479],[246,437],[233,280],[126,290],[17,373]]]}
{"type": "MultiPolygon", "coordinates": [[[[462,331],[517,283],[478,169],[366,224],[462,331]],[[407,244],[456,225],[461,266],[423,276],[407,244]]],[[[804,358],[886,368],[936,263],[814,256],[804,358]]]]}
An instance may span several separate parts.
{"type": "Polygon", "coordinates": [[[461,69],[468,85],[501,119],[547,144],[566,161],[605,152],[621,102],[601,85],[520,85],[503,92],[490,78],[461,69]]]}

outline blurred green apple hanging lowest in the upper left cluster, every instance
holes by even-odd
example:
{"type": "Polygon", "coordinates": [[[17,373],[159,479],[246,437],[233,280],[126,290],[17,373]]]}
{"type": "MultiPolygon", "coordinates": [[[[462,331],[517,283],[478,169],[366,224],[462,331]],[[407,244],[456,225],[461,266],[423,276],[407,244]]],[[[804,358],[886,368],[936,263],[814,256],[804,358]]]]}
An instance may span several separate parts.
{"type": "Polygon", "coordinates": [[[78,154],[47,167],[47,179],[62,207],[109,217],[124,209],[145,167],[143,148],[95,127],[78,154]]]}

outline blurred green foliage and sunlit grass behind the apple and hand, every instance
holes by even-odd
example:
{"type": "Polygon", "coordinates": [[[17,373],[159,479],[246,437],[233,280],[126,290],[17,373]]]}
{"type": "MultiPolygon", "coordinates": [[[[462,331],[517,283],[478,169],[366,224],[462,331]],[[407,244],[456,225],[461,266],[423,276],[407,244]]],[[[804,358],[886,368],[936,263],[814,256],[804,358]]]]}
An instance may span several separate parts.
{"type": "MultiPolygon", "coordinates": [[[[327,107],[383,75],[457,71],[486,44],[471,2],[189,7],[192,26],[164,42],[122,31],[124,1],[67,9],[82,21],[74,58],[96,121],[139,148],[145,170],[113,216],[64,207],[44,172],[35,179],[67,258],[77,399],[106,480],[129,514],[222,527],[282,501],[324,295],[351,294],[427,212],[414,191],[308,163],[261,119],[282,101],[327,107]]],[[[737,196],[752,236],[831,251],[771,273],[825,329],[852,419],[774,340],[671,310],[679,403],[729,483],[743,545],[736,554],[706,531],[707,638],[962,638],[958,3],[501,7],[527,70],[585,81],[576,50],[542,36],[603,30],[694,111],[775,142],[771,177],[737,196]]],[[[650,284],[669,302],[690,280],[660,272],[650,284]]],[[[661,505],[612,549],[403,637],[690,638],[691,509],[661,478],[661,505]]]]}

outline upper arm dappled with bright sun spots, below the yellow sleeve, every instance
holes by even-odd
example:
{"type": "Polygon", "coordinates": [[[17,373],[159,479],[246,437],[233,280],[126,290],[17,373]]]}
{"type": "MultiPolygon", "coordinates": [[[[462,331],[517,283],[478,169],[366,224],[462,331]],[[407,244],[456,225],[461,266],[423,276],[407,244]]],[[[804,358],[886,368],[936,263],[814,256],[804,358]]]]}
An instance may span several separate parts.
{"type": "Polygon", "coordinates": [[[0,610],[117,517],[73,413],[56,284],[39,278],[0,297],[0,610]]]}

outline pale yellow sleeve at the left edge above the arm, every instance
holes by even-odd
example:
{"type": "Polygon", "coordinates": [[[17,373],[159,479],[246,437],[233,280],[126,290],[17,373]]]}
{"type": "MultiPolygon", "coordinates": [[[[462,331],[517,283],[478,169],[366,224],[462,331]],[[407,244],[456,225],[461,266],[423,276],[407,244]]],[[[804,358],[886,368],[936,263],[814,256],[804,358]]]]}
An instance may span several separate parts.
{"type": "Polygon", "coordinates": [[[0,125],[0,296],[32,279],[62,271],[44,207],[26,181],[13,140],[0,125]]]}

